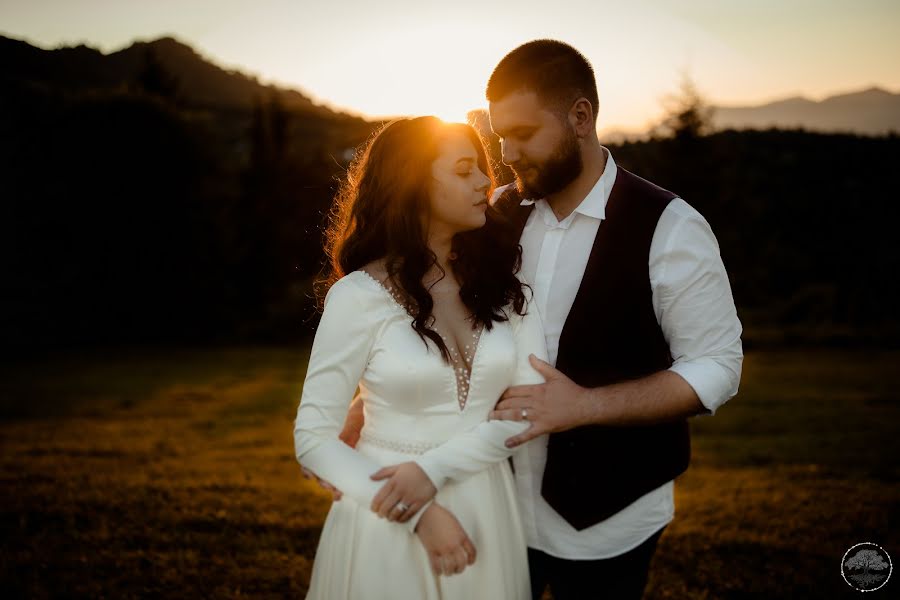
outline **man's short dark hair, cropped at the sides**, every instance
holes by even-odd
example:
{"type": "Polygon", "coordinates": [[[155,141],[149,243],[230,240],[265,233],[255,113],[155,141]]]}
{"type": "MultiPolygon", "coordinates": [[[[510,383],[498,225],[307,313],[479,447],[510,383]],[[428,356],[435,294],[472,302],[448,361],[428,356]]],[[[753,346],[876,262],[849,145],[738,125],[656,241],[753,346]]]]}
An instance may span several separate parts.
{"type": "Polygon", "coordinates": [[[597,122],[597,82],[591,63],[578,50],[557,40],[522,44],[494,68],[485,96],[502,100],[518,91],[532,91],[551,110],[564,115],[578,98],[587,98],[597,122]]]}

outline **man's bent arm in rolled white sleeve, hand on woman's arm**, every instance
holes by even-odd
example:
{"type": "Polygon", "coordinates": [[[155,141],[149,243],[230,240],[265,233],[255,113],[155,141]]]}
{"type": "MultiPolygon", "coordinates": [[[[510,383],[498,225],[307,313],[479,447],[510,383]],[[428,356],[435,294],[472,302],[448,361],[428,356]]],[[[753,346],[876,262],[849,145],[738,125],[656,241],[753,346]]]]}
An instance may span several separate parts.
{"type": "Polygon", "coordinates": [[[532,358],[544,385],[504,392],[491,418],[532,427],[516,446],[583,425],[631,426],[710,415],[737,393],[743,351],[728,276],[709,224],[684,201],[664,213],[650,252],[654,309],[673,364],[647,377],[588,389],[532,358]]]}

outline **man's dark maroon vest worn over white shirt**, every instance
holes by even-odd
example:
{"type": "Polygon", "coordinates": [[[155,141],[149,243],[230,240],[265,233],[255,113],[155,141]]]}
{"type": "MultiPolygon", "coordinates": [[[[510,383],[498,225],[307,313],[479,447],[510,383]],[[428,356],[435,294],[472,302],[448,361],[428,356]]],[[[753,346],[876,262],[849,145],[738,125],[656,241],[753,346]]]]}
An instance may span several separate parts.
{"type": "MultiPolygon", "coordinates": [[[[671,366],[653,310],[648,262],[656,224],[675,197],[618,167],[606,217],[559,340],[556,368],[579,385],[609,385],[671,366]]],[[[520,202],[515,186],[497,202],[519,232],[533,208],[520,202]]],[[[553,433],[541,494],[582,530],[683,473],[690,456],[687,419],[553,433]]]]}

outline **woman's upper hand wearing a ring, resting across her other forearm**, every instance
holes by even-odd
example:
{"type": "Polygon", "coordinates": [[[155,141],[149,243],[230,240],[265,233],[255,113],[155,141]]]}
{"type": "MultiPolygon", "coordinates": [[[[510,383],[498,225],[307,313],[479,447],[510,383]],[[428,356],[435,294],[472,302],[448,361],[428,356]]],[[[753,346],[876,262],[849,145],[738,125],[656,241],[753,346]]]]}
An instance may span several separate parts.
{"type": "Polygon", "coordinates": [[[414,462],[384,467],[372,479],[388,480],[372,499],[372,511],[388,521],[405,523],[437,494],[431,479],[414,462]]]}

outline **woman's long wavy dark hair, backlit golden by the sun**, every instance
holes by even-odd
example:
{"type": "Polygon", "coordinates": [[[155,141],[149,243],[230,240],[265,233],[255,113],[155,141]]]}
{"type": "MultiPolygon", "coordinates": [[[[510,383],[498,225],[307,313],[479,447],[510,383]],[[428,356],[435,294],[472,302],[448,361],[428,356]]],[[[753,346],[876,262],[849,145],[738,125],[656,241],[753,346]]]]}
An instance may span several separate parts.
{"type": "MultiPolygon", "coordinates": [[[[422,278],[437,257],[427,245],[421,217],[429,206],[431,165],[442,140],[453,133],[472,141],[478,167],[491,180],[488,193],[493,191],[490,161],[475,129],[437,117],[392,121],[357,152],[338,190],[326,232],[327,275],[317,282],[321,302],[335,281],[384,259],[390,285],[413,318],[413,329],[423,342],[426,337],[433,341],[448,362],[447,346],[430,327],[434,302],[422,278]]],[[[494,321],[507,320],[504,307],[524,314],[525,294],[516,277],[522,262],[517,232],[492,206],[486,219],[484,227],[453,237],[456,258],[451,265],[460,298],[474,316],[473,328],[481,323],[490,330],[494,321]]]]}

